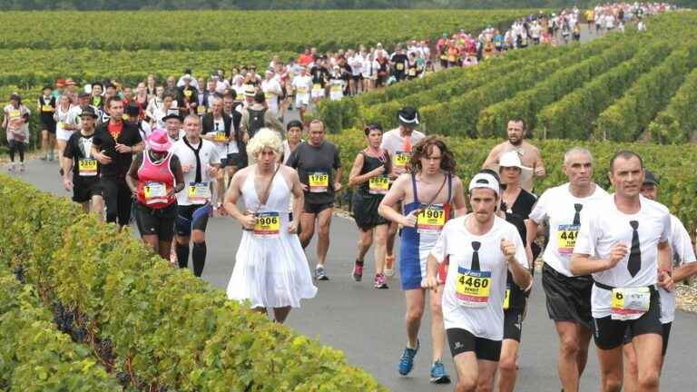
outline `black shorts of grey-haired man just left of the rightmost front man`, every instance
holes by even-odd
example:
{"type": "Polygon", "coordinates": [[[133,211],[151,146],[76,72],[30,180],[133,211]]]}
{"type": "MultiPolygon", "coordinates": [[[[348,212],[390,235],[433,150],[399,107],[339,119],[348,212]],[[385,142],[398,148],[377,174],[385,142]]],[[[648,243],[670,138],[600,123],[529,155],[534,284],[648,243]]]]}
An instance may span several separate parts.
{"type": "Polygon", "coordinates": [[[590,276],[567,277],[545,263],[542,287],[547,299],[547,314],[555,321],[571,321],[592,328],[590,276]]]}

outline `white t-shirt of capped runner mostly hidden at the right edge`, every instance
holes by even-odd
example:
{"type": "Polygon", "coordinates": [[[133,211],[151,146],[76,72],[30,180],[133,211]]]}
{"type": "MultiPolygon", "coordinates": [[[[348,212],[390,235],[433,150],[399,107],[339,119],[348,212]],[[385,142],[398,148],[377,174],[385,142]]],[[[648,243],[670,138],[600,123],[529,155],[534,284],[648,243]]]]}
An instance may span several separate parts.
{"type": "MultiPolygon", "coordinates": [[[[682,222],[675,215],[671,215],[670,242],[673,269],[682,266],[682,264],[697,261],[694,256],[690,234],[688,234],[682,222]]],[[[661,295],[661,322],[663,324],[672,322],[675,319],[675,290],[658,289],[658,293],[661,295]]]]}

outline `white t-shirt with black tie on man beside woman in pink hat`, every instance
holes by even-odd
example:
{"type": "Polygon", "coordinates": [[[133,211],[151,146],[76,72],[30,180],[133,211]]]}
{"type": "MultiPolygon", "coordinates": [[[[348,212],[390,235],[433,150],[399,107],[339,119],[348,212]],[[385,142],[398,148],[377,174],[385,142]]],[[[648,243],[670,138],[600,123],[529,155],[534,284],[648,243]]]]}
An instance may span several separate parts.
{"type": "MultiPolygon", "coordinates": [[[[221,157],[218,156],[218,152],[213,143],[207,140],[201,139],[201,142],[191,144],[191,147],[193,147],[193,149],[198,149],[200,145],[201,182],[210,183],[212,179],[211,176],[208,175],[208,170],[212,164],[220,163],[221,157]],[[203,144],[201,145],[201,143],[203,144]]],[[[186,145],[183,137],[172,145],[170,152],[177,155],[179,161],[182,162],[182,166],[191,165],[191,170],[184,173],[184,185],[186,186],[183,191],[177,193],[177,203],[179,205],[203,204],[205,201],[189,201],[189,185],[196,181],[196,153],[186,145]]]]}

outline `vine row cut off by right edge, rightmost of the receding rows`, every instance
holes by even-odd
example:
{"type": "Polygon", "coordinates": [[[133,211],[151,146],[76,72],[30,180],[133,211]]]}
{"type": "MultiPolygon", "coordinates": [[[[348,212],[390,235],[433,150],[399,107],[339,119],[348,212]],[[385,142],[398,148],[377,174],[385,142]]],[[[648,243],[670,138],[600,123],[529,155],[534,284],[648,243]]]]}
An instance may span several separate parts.
{"type": "Polygon", "coordinates": [[[697,131],[697,69],[687,75],[663,112],[649,124],[654,141],[678,144],[690,142],[697,131]]]}

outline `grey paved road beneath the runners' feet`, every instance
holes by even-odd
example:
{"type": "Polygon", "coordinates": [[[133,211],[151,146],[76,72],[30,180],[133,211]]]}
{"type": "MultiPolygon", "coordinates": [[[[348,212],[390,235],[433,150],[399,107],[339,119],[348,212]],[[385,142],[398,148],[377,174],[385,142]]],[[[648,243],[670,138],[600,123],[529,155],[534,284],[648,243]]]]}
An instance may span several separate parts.
{"type": "MultiPolygon", "coordinates": [[[[54,163],[28,162],[23,177],[44,191],[67,195],[61,189],[54,163]]],[[[208,232],[209,257],[203,279],[225,288],[241,238],[240,226],[231,219],[216,218],[209,223],[208,232]]],[[[423,346],[411,376],[398,376],[397,362],[405,343],[403,294],[396,279],[389,280],[388,290],[372,289],[370,279],[360,283],[351,279],[357,233],[351,220],[333,220],[332,243],[327,262],[332,279],[317,283],[317,297],[303,302],[301,309],[291,312],[288,325],[309,337],[319,338],[322,343],[344,350],[351,364],[365,368],[394,391],[452,390],[450,386],[432,386],[428,383],[431,349],[428,328],[422,330],[423,346]]],[[[313,247],[309,250],[309,255],[314,255],[313,247]]],[[[310,260],[314,265],[314,256],[310,260]]],[[[373,265],[370,257],[367,260],[366,277],[373,273],[373,265]]],[[[539,279],[536,279],[530,311],[525,320],[518,391],[551,391],[560,388],[556,377],[558,342],[553,324],[546,317],[545,297],[539,283],[539,279]]],[[[429,320],[425,319],[423,325],[428,326],[429,320]]],[[[697,366],[691,358],[697,353],[696,329],[697,315],[677,312],[662,379],[663,390],[694,390],[694,372],[697,366]]],[[[448,351],[444,362],[452,375],[452,361],[448,351]]],[[[598,383],[598,365],[592,351],[588,370],[582,380],[582,390],[597,390],[598,383]]]]}

